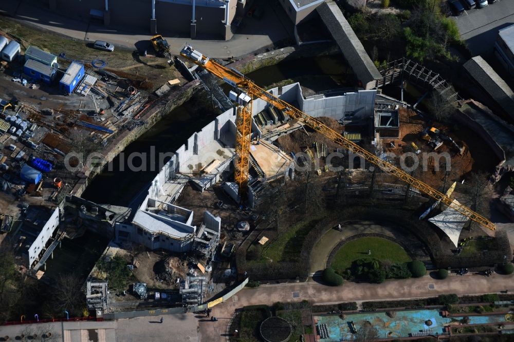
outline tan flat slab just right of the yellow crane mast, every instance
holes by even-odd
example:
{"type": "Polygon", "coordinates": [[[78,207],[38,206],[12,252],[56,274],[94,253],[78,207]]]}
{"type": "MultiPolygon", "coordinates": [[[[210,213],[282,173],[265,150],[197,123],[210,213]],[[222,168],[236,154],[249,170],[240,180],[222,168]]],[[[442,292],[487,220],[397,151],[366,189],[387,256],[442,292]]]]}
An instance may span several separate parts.
{"type": "Polygon", "coordinates": [[[293,162],[292,158],[277,146],[261,140],[250,145],[250,154],[267,178],[284,173],[293,162]]]}

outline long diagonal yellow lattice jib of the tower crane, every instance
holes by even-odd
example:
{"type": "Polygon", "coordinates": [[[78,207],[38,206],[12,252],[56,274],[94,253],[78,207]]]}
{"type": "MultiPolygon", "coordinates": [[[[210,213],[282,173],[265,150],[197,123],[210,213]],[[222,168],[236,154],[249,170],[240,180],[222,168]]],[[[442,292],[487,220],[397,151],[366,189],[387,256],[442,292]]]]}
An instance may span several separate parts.
{"type": "MultiPolygon", "coordinates": [[[[192,47],[191,47],[192,48],[192,47]]],[[[196,51],[196,50],[195,50],[196,51]]],[[[311,127],[315,129],[316,131],[320,132],[322,135],[324,135],[326,138],[334,141],[335,143],[345,147],[346,149],[352,151],[353,153],[356,153],[363,157],[365,160],[368,160],[369,162],[375,164],[380,169],[384,170],[384,172],[387,172],[398,179],[405,181],[409,185],[417,188],[419,191],[425,193],[426,195],[432,197],[435,200],[439,200],[443,202],[444,204],[448,205],[455,211],[463,214],[464,216],[470,218],[471,220],[482,224],[483,226],[487,227],[490,230],[496,229],[494,223],[486,219],[485,217],[481,216],[478,213],[473,212],[470,208],[453,201],[448,196],[438,192],[436,189],[432,188],[430,185],[425,184],[416,178],[412,177],[405,171],[399,169],[398,167],[388,163],[387,161],[384,161],[374,154],[370,153],[369,151],[365,150],[364,148],[360,147],[359,145],[355,144],[354,142],[347,140],[344,138],[341,134],[336,132],[335,130],[329,128],[325,124],[323,124],[321,121],[310,117],[303,111],[299,110],[298,108],[295,108],[288,104],[287,102],[280,100],[273,94],[269,93],[268,91],[264,90],[263,88],[260,88],[256,84],[254,84],[252,81],[246,79],[244,75],[241,72],[236,71],[235,69],[228,69],[224,67],[221,64],[216,63],[213,60],[208,60],[209,63],[203,64],[199,61],[191,58],[187,53],[180,53],[182,56],[187,58],[188,60],[191,60],[193,63],[198,64],[200,67],[210,71],[212,74],[216,75],[216,77],[223,79],[226,83],[230,84],[231,86],[235,88],[239,88],[240,90],[245,91],[248,96],[250,96],[253,99],[260,98],[269,104],[277,107],[280,110],[284,110],[289,117],[292,119],[296,119],[300,121],[302,124],[311,127]],[[233,81],[231,79],[235,79],[236,81],[233,81]]],[[[250,101],[251,104],[251,101],[250,101]]],[[[251,126],[251,115],[245,115],[245,119],[241,120],[240,122],[237,122],[236,126],[238,125],[244,125],[245,127],[251,126]],[[246,122],[249,121],[249,122],[246,122]]],[[[240,127],[238,127],[238,131],[240,130],[240,127]]],[[[247,129],[244,129],[245,133],[247,129]]],[[[243,151],[243,154],[249,154],[248,150],[243,151]]],[[[240,156],[243,160],[248,160],[248,156],[240,156]]],[[[242,165],[248,169],[248,165],[242,165]]],[[[244,186],[243,183],[240,184],[240,186],[244,186]]]]}

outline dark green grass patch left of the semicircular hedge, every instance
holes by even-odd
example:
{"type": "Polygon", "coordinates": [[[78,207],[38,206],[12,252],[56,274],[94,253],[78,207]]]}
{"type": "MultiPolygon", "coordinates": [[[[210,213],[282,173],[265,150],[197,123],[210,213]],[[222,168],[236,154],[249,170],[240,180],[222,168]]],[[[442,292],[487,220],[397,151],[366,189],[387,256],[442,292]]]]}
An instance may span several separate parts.
{"type": "Polygon", "coordinates": [[[319,221],[320,218],[304,220],[285,228],[285,232],[264,247],[263,256],[273,262],[298,260],[305,236],[319,221]]]}

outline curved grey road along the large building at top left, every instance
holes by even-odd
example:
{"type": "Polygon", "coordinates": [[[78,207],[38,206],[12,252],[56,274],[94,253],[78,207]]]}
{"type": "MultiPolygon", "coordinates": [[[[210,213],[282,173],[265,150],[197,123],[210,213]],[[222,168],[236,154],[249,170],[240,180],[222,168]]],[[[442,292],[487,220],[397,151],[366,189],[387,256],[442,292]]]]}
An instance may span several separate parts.
{"type": "MultiPolygon", "coordinates": [[[[105,27],[79,22],[21,0],[0,1],[0,13],[9,13],[18,20],[75,39],[91,42],[101,39],[112,42],[115,46],[134,48],[137,42],[148,42],[150,37],[149,32],[133,32],[131,28],[105,27]]],[[[173,54],[178,54],[182,45],[190,42],[195,48],[213,58],[228,58],[246,55],[292,36],[292,24],[280,6],[269,6],[269,10],[260,21],[245,17],[242,25],[240,32],[230,41],[191,41],[188,37],[178,35],[166,36],[166,39],[173,54]]]]}

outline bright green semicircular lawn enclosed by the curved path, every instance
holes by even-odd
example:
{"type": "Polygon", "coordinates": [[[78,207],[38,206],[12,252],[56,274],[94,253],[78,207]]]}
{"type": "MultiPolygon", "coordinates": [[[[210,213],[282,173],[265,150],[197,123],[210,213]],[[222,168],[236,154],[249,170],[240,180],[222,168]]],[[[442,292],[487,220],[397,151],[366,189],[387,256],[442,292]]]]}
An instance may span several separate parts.
{"type": "Polygon", "coordinates": [[[390,262],[408,262],[411,258],[397,243],[379,237],[362,237],[341,246],[332,259],[331,267],[339,273],[350,268],[357,259],[374,258],[390,262]],[[371,254],[368,255],[368,251],[371,254]]]}

